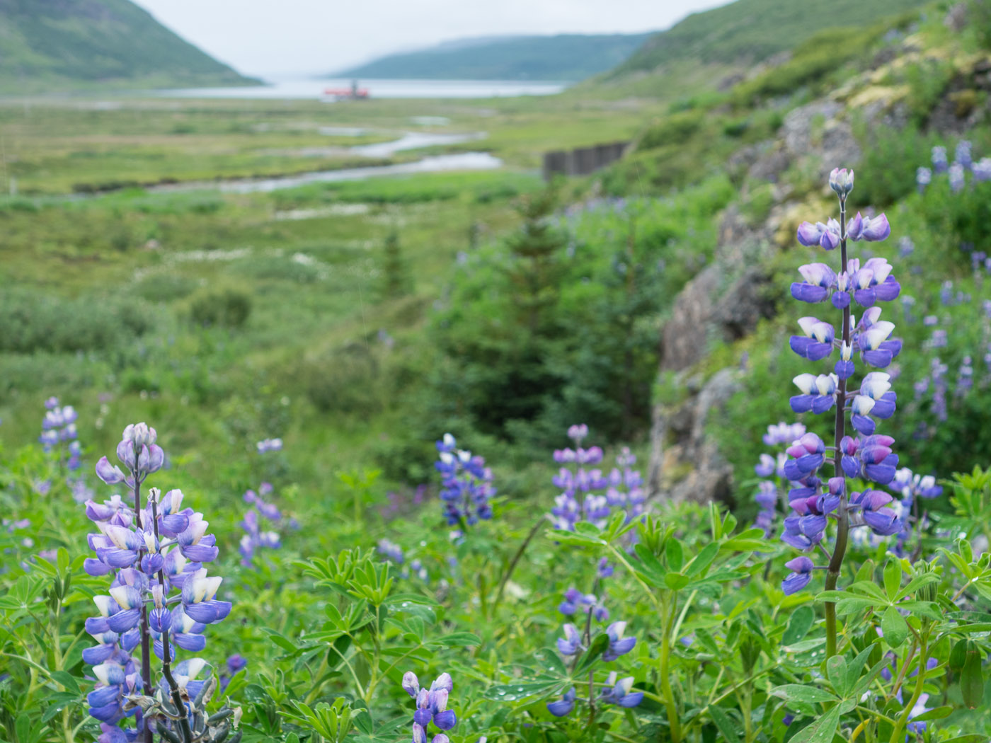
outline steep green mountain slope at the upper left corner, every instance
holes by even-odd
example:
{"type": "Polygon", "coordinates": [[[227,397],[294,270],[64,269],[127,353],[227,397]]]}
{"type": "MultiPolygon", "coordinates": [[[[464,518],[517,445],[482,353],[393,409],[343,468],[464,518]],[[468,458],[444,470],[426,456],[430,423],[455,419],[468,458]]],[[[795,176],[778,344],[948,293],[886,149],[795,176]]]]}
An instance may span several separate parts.
{"type": "Polygon", "coordinates": [[[5,93],[257,82],[129,0],[0,0],[5,93]]]}

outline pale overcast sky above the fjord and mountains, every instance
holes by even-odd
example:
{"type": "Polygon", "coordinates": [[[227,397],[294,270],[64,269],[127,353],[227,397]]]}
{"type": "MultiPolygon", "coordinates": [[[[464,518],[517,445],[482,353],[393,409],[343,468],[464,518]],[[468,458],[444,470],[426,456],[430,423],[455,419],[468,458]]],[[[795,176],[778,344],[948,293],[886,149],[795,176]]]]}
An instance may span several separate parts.
{"type": "Polygon", "coordinates": [[[135,0],[255,75],[332,72],[466,37],[656,31],[727,0],[135,0]]]}

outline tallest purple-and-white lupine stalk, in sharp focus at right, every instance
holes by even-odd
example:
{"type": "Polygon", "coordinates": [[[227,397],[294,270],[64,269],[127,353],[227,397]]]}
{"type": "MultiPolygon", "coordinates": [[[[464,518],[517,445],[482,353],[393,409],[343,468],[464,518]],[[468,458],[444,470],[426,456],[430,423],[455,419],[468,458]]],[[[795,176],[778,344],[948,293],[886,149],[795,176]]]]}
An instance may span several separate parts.
{"type": "MultiPolygon", "coordinates": [[[[855,479],[888,484],[895,476],[898,456],[892,453],[894,439],[875,433],[876,419],[886,419],[895,412],[896,395],[891,391],[891,377],[883,371],[869,371],[854,390],[851,383],[856,371],[854,354],[867,367],[886,369],[901,352],[901,341],[891,339],[894,323],[880,319],[879,301],[891,301],[901,292],[901,285],[891,275],[892,266],[882,258],[860,264],[847,255],[849,242],[879,242],[891,234],[884,214],[863,217],[859,212],[847,223],[846,199],[853,189],[853,171],[836,168],[829,174],[829,187],[839,200],[839,221],[826,224],[803,222],[798,240],[804,246],[819,246],[826,251],[839,248],[839,271],[824,263],[799,268],[803,281],[792,284],[792,296],[802,302],[818,304],[826,299],[841,313],[839,335],[831,323],[816,317],[799,319],[803,335],[792,336],[791,349],[804,359],[819,362],[838,351],[839,359],[831,373],[803,373],[795,377],[801,394],[791,398],[797,413],[825,414],[835,407],[832,444],[815,433],[806,433],[788,449],[791,459],[785,464],[786,478],[792,489],[788,499],[792,515],[785,519],[783,540],[806,552],[816,549],[828,555],[826,590],[836,587],[850,530],[866,527],[875,534],[890,536],[902,530],[898,512],[888,507],[893,498],[888,493],[863,489],[850,491],[855,479]],[[856,303],[864,308],[859,323],[851,312],[856,303]],[[847,429],[849,416],[849,430],[847,429]],[[851,435],[852,434],[852,435],[851,435]],[[820,469],[832,465],[832,477],[826,482],[820,469]],[[831,551],[823,544],[829,520],[835,522],[831,551]]],[[[783,588],[793,593],[812,579],[816,566],[808,557],[788,563],[793,571],[783,588]]],[[[826,656],[836,653],[836,607],[826,602],[826,656]]]]}

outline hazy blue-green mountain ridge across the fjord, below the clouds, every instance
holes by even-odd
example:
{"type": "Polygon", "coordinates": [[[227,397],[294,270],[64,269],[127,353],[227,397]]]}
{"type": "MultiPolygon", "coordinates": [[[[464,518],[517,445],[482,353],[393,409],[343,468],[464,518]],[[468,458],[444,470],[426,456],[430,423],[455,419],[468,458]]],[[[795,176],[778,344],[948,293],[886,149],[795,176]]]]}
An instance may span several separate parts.
{"type": "Polygon", "coordinates": [[[621,63],[650,34],[559,34],[445,42],[337,70],[334,77],[582,80],[621,63]]]}

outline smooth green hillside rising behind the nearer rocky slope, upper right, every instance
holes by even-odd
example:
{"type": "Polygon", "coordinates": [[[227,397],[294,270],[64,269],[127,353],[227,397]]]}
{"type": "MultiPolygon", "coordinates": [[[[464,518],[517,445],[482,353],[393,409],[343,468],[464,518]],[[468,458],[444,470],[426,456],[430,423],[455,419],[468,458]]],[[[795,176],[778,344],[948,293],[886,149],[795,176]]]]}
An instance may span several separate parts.
{"type": "Polygon", "coordinates": [[[688,58],[708,64],[759,61],[791,50],[823,29],[860,26],[924,4],[923,0],[737,0],[695,13],[653,35],[610,76],[649,71],[688,58]]]}

